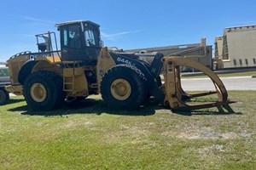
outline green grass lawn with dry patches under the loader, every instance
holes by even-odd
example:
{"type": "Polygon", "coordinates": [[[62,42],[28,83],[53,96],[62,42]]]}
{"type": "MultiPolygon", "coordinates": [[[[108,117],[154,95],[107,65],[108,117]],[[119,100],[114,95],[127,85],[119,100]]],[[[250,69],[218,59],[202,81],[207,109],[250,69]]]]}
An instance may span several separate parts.
{"type": "Polygon", "coordinates": [[[255,169],[256,91],[229,94],[234,114],[116,111],[99,96],[40,112],[13,97],[0,106],[0,169],[255,169]]]}

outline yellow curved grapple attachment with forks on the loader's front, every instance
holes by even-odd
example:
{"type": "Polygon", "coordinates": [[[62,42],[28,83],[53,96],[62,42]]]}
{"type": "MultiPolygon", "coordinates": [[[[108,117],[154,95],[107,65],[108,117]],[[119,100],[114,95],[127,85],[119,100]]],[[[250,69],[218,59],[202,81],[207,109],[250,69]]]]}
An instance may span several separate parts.
{"type": "MultiPolygon", "coordinates": [[[[185,59],[181,57],[164,57],[162,59],[164,63],[164,79],[165,79],[165,100],[164,105],[170,105],[174,111],[191,111],[210,107],[230,108],[230,103],[235,103],[235,100],[228,99],[228,93],[224,87],[224,83],[219,77],[210,70],[207,66],[202,65],[191,59],[185,59]],[[201,94],[187,94],[184,92],[181,85],[180,66],[187,66],[195,68],[198,71],[205,73],[213,82],[216,91],[209,91],[201,94]],[[211,94],[218,95],[218,101],[204,102],[200,104],[188,104],[189,99],[207,96],[211,94]]],[[[200,89],[198,89],[200,91],[200,89]]]]}

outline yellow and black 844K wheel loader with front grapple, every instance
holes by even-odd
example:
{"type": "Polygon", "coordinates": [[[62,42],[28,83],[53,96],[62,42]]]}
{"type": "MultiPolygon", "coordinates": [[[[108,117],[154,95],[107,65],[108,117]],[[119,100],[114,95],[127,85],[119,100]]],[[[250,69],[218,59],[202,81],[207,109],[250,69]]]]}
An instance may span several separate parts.
{"type": "Polygon", "coordinates": [[[174,111],[226,106],[234,102],[228,99],[218,76],[198,62],[160,53],[125,53],[118,48],[103,47],[100,26],[88,20],[55,26],[60,31],[60,50],[55,32],[47,32],[36,35],[37,53],[25,51],[7,61],[11,84],[5,89],[9,93],[24,95],[27,105],[35,110],[49,111],[64,102],[84,99],[91,94],[102,94],[109,107],[121,110],[145,105],[150,96],[174,111]],[[148,64],[139,59],[140,55],[154,59],[148,64]],[[184,92],[180,66],[206,73],[216,91],[202,94],[184,92]],[[161,71],[164,83],[160,79],[161,71]],[[187,104],[189,99],[209,94],[217,94],[218,101],[187,104]]]}

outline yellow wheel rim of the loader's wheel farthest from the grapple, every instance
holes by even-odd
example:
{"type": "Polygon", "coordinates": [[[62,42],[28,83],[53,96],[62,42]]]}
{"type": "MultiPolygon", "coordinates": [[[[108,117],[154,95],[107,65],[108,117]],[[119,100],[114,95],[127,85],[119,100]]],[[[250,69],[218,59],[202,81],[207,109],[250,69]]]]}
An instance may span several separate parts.
{"type": "Polygon", "coordinates": [[[41,83],[35,83],[30,89],[30,94],[33,100],[37,102],[43,102],[46,99],[47,91],[44,85],[41,83]]]}

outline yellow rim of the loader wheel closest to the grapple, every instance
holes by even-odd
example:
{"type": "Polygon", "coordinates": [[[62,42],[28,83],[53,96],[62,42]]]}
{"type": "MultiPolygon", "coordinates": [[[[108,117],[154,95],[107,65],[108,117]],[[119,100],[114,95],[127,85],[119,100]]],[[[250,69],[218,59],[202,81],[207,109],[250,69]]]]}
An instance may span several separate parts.
{"type": "Polygon", "coordinates": [[[116,79],[111,84],[111,94],[118,100],[128,99],[131,95],[131,85],[125,79],[116,79]]]}

